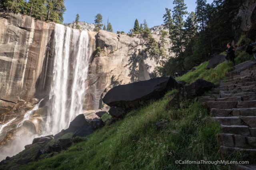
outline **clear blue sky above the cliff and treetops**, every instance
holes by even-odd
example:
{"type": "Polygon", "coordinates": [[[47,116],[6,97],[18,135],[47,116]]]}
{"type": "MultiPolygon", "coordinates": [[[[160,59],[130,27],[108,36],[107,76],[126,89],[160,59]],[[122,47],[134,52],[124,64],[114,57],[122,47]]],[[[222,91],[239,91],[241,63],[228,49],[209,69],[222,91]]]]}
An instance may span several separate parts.
{"type": "MultiPolygon", "coordinates": [[[[212,3],[213,0],[207,0],[212,3]]],[[[141,23],[147,20],[149,27],[161,25],[165,8],[173,8],[173,0],[65,0],[66,12],[64,23],[75,20],[76,14],[80,15],[80,21],[94,23],[94,16],[100,13],[103,23],[112,24],[114,32],[128,32],[133,28],[137,18],[141,23]]],[[[194,11],[196,0],[185,0],[187,11],[194,11]]]]}

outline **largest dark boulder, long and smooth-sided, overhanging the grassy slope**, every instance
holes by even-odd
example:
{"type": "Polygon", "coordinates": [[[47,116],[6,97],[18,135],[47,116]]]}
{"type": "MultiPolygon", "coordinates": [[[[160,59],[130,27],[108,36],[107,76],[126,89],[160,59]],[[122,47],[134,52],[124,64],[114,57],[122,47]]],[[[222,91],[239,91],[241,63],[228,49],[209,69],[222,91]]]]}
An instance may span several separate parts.
{"type": "Polygon", "coordinates": [[[106,93],[103,102],[110,107],[134,109],[152,99],[159,99],[168,90],[179,88],[172,77],[160,77],[116,86],[106,93]]]}

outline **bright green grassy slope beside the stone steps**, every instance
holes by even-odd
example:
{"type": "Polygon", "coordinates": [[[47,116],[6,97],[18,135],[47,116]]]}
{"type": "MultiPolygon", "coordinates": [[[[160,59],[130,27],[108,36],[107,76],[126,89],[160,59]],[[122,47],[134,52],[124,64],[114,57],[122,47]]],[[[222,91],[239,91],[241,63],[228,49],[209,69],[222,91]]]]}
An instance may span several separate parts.
{"type": "MultiPolygon", "coordinates": [[[[236,59],[238,60],[238,59],[236,59]]],[[[231,70],[224,62],[206,70],[207,63],[188,72],[178,80],[193,82],[198,78],[218,83],[231,70]]],[[[176,164],[175,160],[221,160],[216,134],[217,123],[210,119],[208,110],[196,100],[184,101],[180,109],[165,110],[172,90],[164,98],[131,111],[122,120],[106,125],[68,150],[44,154],[42,160],[21,166],[21,169],[228,169],[223,165],[176,164]],[[156,122],[168,120],[163,129],[156,122]]],[[[229,158],[232,160],[232,158],[229,158]]]]}

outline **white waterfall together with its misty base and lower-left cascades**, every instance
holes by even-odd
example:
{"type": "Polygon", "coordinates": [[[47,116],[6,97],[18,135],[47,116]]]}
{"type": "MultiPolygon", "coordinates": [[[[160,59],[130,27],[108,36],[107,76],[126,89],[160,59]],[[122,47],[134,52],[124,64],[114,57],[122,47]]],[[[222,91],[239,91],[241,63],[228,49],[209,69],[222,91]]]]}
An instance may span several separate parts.
{"type": "MultiPolygon", "coordinates": [[[[55,135],[66,129],[70,121],[82,113],[90,63],[88,32],[56,24],[53,38],[54,65],[48,115],[43,118],[38,134],[25,127],[24,123],[30,121],[32,111],[38,109],[39,104],[28,111],[20,122],[12,119],[0,126],[2,133],[18,129],[14,139],[8,145],[0,147],[0,160],[21,152],[36,137],[55,135]],[[17,125],[14,126],[14,122],[17,125]]],[[[0,132],[0,137],[1,135],[4,134],[0,132]]]]}

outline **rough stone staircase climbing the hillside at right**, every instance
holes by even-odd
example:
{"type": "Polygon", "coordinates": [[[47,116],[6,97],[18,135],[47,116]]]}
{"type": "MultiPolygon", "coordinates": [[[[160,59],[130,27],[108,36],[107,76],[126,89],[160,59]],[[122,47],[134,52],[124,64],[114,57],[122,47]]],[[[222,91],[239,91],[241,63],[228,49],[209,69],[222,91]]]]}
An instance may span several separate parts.
{"type": "MultiPolygon", "coordinates": [[[[220,154],[228,157],[244,155],[242,160],[256,162],[256,64],[239,72],[229,73],[218,88],[198,98],[220,123],[217,135],[220,154]]],[[[256,165],[236,165],[236,170],[256,170],[256,165]]]]}

